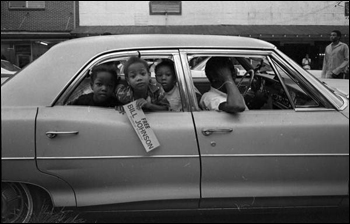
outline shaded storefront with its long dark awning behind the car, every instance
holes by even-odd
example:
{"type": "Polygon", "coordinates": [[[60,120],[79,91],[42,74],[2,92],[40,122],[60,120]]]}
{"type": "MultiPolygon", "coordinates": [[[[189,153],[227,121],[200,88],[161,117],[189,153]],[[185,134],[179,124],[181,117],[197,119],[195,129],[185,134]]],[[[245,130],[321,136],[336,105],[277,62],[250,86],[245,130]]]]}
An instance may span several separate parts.
{"type": "Polygon", "coordinates": [[[253,37],[268,41],[301,64],[306,54],[312,69],[322,69],[323,55],[332,30],[342,32],[349,45],[349,26],[325,25],[195,25],[195,26],[80,26],[74,37],[109,34],[211,34],[253,37]]]}

